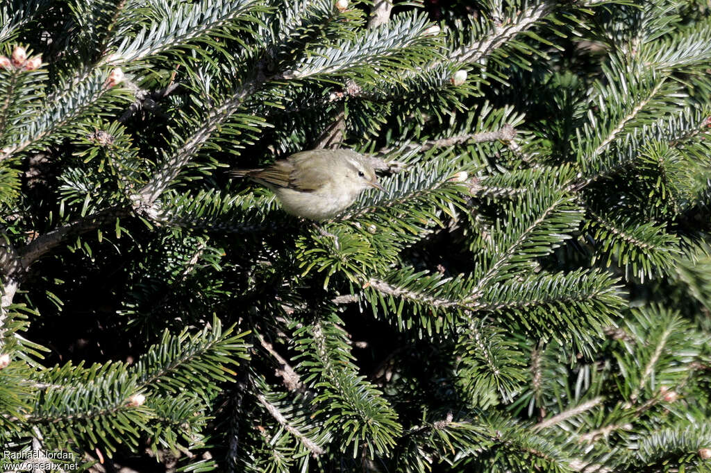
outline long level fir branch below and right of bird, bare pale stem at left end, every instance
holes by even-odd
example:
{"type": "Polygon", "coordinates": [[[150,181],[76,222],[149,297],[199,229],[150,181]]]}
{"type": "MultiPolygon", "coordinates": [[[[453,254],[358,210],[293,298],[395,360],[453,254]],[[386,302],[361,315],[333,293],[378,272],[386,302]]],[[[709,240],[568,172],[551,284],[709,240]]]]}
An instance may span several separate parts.
{"type": "Polygon", "coordinates": [[[388,279],[391,281],[371,278],[370,284],[364,286],[373,308],[380,305],[386,313],[395,310],[400,318],[402,303],[398,307],[395,300],[407,301],[411,307],[424,312],[420,323],[427,330],[435,322],[454,324],[452,312],[460,316],[466,314],[466,310],[474,315],[493,313],[499,318],[506,317],[534,337],[565,339],[584,352],[594,347],[590,331],[601,333],[612,317],[619,316],[624,305],[616,281],[597,270],[519,276],[491,283],[476,299],[470,295],[479,280],[472,276],[442,278],[402,269],[388,275],[388,279]],[[389,297],[383,297],[385,295],[389,297]],[[490,304],[492,301],[496,302],[490,304]],[[447,321],[432,317],[433,312],[441,311],[449,314],[447,321]]]}

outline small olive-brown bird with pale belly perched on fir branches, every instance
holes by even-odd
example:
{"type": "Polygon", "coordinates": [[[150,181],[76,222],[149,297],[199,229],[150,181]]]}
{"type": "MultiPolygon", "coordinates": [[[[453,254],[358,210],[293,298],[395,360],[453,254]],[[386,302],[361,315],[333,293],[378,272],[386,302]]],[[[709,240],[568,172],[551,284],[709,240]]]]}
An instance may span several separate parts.
{"type": "Polygon", "coordinates": [[[346,210],[363,190],[385,191],[368,158],[346,148],[301,151],[267,168],[237,169],[230,175],[269,187],[285,212],[316,221],[346,210]]]}

